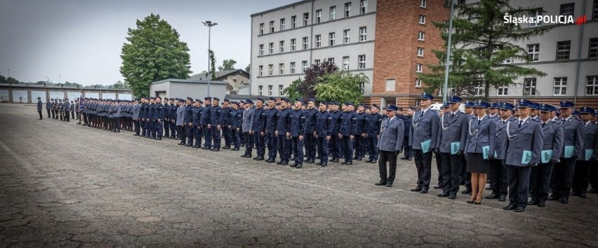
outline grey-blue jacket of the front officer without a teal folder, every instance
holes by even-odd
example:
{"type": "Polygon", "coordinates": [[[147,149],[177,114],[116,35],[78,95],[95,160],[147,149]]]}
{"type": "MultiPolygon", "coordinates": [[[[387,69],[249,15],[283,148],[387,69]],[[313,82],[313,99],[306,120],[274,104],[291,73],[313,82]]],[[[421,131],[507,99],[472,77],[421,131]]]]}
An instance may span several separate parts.
{"type": "Polygon", "coordinates": [[[394,116],[392,120],[384,119],[381,125],[378,149],[380,151],[401,151],[404,135],[405,125],[401,118],[394,116]]]}

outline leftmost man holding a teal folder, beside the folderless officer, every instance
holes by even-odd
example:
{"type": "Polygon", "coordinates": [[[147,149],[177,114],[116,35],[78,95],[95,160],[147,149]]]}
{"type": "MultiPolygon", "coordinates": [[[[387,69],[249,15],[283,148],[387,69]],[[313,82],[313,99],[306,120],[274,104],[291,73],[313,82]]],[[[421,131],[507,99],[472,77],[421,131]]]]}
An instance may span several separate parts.
{"type": "Polygon", "coordinates": [[[418,186],[411,191],[427,193],[432,177],[432,152],[437,149],[438,130],[440,118],[436,111],[430,109],[432,95],[422,93],[420,111],[413,114],[409,128],[409,146],[413,149],[413,158],[416,160],[418,170],[418,186]],[[422,147],[422,145],[426,147],[422,147]],[[427,149],[427,151],[424,150],[427,149]]]}

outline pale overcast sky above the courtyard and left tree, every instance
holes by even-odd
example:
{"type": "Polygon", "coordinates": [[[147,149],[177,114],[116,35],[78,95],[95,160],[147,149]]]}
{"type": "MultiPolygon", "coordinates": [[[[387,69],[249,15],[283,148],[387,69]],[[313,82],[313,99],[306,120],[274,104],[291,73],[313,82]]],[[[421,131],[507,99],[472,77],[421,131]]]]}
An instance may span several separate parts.
{"type": "Polygon", "coordinates": [[[0,0],[0,74],[23,82],[124,81],[121,48],[127,29],[159,14],[190,49],[194,74],[207,69],[208,27],[217,58],[250,62],[250,15],[298,0],[0,0]],[[59,76],[61,75],[61,76],[59,76]]]}

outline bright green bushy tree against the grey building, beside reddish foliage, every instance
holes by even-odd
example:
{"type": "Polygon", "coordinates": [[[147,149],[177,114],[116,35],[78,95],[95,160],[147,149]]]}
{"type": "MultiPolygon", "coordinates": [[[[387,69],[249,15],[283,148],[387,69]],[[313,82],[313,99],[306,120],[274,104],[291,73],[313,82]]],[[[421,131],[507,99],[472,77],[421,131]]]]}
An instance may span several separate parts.
{"type": "Polygon", "coordinates": [[[350,74],[348,71],[327,73],[319,76],[318,79],[319,83],[313,87],[317,99],[355,104],[364,98],[361,85],[370,82],[365,74],[350,74]]]}

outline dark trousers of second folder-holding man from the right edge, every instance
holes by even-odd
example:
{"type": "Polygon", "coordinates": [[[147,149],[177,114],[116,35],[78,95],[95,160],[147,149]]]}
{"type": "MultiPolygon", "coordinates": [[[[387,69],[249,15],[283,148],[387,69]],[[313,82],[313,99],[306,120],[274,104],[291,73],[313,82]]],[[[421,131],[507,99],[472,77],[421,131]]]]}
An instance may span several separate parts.
{"type": "Polygon", "coordinates": [[[569,199],[571,187],[573,186],[573,172],[576,167],[576,160],[571,158],[560,158],[561,162],[554,165],[550,189],[556,198],[569,199]]]}

